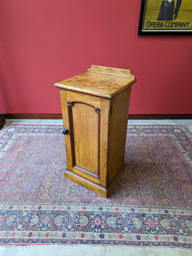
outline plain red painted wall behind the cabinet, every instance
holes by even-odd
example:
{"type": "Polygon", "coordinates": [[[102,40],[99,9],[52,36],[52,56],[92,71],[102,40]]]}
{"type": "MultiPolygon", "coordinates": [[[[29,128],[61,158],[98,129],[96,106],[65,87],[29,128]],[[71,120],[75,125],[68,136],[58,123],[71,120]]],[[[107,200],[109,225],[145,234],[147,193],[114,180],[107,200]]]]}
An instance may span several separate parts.
{"type": "Polygon", "coordinates": [[[0,1],[0,113],[61,113],[54,83],[131,69],[131,114],[192,113],[192,36],[138,36],[141,0],[0,1]]]}

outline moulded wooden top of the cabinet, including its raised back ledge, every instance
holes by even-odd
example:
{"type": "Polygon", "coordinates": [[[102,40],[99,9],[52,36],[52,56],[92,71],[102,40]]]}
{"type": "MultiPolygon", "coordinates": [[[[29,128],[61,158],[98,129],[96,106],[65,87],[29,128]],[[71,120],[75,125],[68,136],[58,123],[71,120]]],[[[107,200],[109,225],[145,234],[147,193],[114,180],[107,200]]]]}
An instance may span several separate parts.
{"type": "Polygon", "coordinates": [[[131,70],[93,66],[87,72],[73,76],[55,86],[105,98],[112,98],[136,82],[131,70]]]}

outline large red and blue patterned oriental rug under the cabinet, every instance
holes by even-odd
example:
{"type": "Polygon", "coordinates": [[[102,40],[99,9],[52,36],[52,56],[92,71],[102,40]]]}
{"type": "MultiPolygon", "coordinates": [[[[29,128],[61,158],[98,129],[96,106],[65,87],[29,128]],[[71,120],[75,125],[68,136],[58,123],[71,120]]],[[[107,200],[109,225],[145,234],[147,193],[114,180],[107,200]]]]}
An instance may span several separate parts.
{"type": "Polygon", "coordinates": [[[128,126],[126,171],[109,198],[66,180],[61,125],[0,131],[0,244],[192,249],[192,133],[128,126]]]}

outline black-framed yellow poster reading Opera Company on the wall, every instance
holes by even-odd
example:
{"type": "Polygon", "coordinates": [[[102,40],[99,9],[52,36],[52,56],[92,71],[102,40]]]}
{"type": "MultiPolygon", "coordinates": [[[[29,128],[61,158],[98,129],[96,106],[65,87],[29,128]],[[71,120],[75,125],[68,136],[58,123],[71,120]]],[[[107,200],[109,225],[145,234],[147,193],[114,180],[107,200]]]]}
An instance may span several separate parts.
{"type": "Polygon", "coordinates": [[[142,0],[138,35],[192,35],[192,0],[142,0]]]}

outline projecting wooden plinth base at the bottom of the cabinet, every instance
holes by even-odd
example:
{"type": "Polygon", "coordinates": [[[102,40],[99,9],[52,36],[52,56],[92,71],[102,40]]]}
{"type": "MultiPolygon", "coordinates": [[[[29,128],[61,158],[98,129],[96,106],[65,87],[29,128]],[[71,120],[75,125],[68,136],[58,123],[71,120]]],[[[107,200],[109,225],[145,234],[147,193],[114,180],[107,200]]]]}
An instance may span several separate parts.
{"type": "Polygon", "coordinates": [[[117,172],[116,176],[114,177],[114,179],[110,182],[110,184],[107,186],[107,188],[105,188],[104,186],[101,186],[97,183],[94,183],[90,180],[85,179],[82,176],[77,175],[74,172],[71,172],[70,170],[66,170],[65,171],[65,177],[71,181],[74,181],[75,183],[89,189],[92,190],[93,192],[103,196],[103,197],[108,197],[111,190],[115,187],[117,181],[121,178],[121,176],[123,175],[125,171],[125,165],[123,165],[119,171],[117,172]]]}

